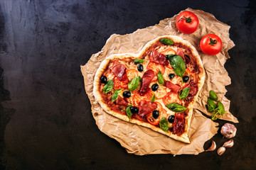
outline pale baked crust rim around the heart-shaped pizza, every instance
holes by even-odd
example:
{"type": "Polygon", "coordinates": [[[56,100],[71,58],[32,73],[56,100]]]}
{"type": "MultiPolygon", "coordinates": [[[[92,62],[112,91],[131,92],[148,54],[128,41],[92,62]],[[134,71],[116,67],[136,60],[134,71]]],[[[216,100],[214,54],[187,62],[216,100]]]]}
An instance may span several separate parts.
{"type": "Polygon", "coordinates": [[[95,96],[97,102],[100,103],[100,106],[103,108],[103,110],[106,111],[107,113],[109,113],[110,115],[114,115],[115,117],[117,117],[121,120],[125,120],[130,123],[135,123],[137,125],[142,125],[146,128],[150,128],[151,130],[160,132],[161,134],[167,135],[175,140],[185,142],[185,143],[190,143],[190,140],[188,137],[188,130],[190,128],[191,117],[192,117],[192,113],[193,113],[193,104],[196,102],[196,98],[198,97],[198,94],[200,93],[200,91],[203,87],[204,80],[205,80],[205,72],[203,69],[203,64],[202,64],[201,58],[198,55],[196,48],[193,47],[193,45],[191,45],[190,42],[183,40],[182,38],[180,38],[178,36],[164,35],[164,36],[161,36],[154,40],[151,40],[150,42],[147,42],[146,45],[142,48],[142,50],[138,54],[134,54],[134,53],[115,54],[115,55],[110,55],[110,57],[105,58],[105,60],[102,61],[102,63],[100,64],[100,67],[97,69],[97,72],[95,74],[95,79],[94,79],[94,83],[93,83],[93,95],[95,96]],[[128,61],[130,59],[135,60],[135,59],[142,58],[142,55],[144,54],[144,52],[149,47],[151,47],[151,45],[153,45],[155,42],[159,41],[161,38],[169,38],[169,39],[173,40],[174,42],[181,42],[183,45],[190,48],[192,54],[196,57],[196,64],[198,66],[198,69],[200,70],[200,72],[198,74],[198,93],[196,94],[196,96],[194,96],[193,101],[191,101],[191,103],[189,103],[189,105],[187,107],[189,109],[189,112],[185,118],[186,128],[185,128],[185,131],[183,132],[183,134],[180,136],[174,135],[172,132],[164,132],[163,130],[161,130],[161,128],[151,125],[150,123],[143,123],[143,122],[141,122],[139,120],[135,120],[135,119],[129,120],[127,115],[122,115],[118,112],[112,111],[107,106],[107,104],[105,104],[103,102],[103,98],[100,94],[100,77],[105,72],[105,70],[107,69],[107,67],[111,61],[113,61],[113,60],[127,60],[128,61]]]}

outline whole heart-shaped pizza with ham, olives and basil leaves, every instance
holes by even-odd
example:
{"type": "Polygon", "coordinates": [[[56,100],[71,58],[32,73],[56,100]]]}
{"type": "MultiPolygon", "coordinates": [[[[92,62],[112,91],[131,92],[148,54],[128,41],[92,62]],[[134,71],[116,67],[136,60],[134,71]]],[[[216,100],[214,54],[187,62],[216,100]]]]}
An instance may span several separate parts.
{"type": "Polygon", "coordinates": [[[139,54],[105,58],[93,94],[110,115],[190,143],[188,130],[205,73],[196,48],[178,36],[146,43],[139,54]]]}

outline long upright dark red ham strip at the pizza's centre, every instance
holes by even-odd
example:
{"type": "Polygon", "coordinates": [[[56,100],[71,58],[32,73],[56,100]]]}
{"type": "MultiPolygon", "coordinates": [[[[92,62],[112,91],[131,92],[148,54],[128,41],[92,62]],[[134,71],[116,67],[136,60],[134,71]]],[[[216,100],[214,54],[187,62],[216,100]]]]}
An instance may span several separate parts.
{"type": "Polygon", "coordinates": [[[156,74],[154,74],[154,71],[149,69],[144,72],[142,76],[142,86],[139,89],[139,95],[144,96],[149,90],[149,84],[151,83],[152,79],[154,79],[156,74]]]}

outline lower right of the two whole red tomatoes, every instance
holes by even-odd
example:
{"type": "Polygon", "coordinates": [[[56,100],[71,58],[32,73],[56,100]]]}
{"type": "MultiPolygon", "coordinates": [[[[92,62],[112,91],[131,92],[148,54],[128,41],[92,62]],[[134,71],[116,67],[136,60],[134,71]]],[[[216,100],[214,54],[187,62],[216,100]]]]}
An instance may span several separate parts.
{"type": "Polygon", "coordinates": [[[222,41],[215,34],[208,34],[200,41],[200,48],[206,55],[217,55],[222,49],[222,41]]]}

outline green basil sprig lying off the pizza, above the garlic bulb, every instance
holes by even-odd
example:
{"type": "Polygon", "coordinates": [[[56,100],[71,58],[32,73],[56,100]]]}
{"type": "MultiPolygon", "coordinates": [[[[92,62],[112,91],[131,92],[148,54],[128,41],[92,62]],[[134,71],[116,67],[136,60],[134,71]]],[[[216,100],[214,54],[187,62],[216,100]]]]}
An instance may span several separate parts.
{"type": "Polygon", "coordinates": [[[221,115],[223,115],[224,113],[226,113],[227,111],[225,111],[225,108],[223,106],[223,103],[221,103],[220,101],[218,101],[218,96],[215,94],[214,91],[210,91],[209,92],[209,96],[207,98],[207,105],[206,108],[210,113],[213,113],[211,116],[212,120],[217,120],[218,118],[220,118],[221,115]],[[218,106],[216,106],[214,101],[218,101],[218,106]]]}

